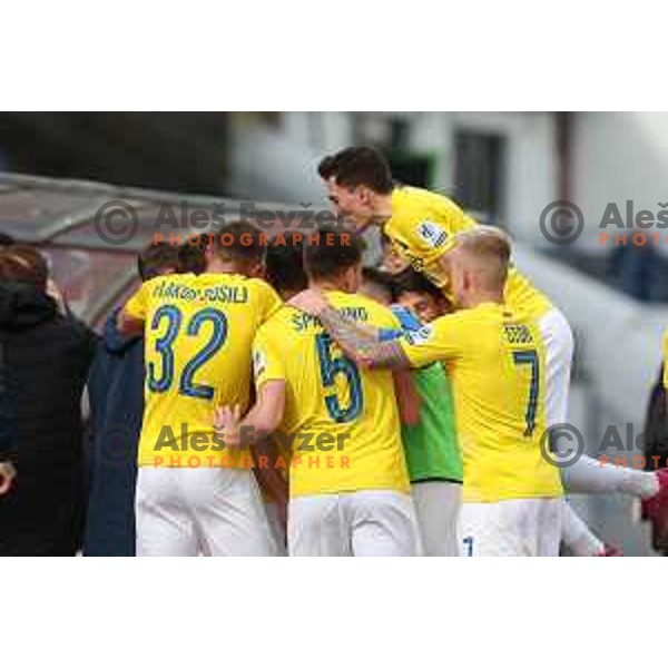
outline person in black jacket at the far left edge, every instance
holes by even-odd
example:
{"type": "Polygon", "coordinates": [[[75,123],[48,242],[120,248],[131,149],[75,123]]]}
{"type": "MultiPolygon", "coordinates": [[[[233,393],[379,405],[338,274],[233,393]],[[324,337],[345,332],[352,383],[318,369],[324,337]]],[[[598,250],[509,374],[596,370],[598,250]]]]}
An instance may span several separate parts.
{"type": "Polygon", "coordinates": [[[47,281],[33,248],[0,249],[2,458],[16,469],[0,497],[2,556],[68,556],[80,546],[80,402],[95,335],[59,313],[47,281]]]}

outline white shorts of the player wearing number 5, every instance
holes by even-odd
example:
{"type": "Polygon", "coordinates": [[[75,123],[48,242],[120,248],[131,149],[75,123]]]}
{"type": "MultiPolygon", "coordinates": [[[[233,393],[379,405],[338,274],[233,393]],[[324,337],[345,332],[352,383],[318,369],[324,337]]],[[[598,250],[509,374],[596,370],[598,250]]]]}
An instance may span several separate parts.
{"type": "Polygon", "coordinates": [[[413,501],[393,491],[360,491],[289,500],[291,557],[416,557],[413,501]]]}

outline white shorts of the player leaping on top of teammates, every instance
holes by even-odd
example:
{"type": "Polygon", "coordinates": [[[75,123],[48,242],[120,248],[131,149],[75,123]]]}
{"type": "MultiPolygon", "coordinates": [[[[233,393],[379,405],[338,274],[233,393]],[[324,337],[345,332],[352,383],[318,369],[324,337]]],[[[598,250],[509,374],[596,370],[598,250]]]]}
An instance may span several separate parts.
{"type": "Polygon", "coordinates": [[[538,327],[546,346],[546,418],[551,426],[568,418],[573,333],[563,313],[556,307],[538,321],[538,327]]]}

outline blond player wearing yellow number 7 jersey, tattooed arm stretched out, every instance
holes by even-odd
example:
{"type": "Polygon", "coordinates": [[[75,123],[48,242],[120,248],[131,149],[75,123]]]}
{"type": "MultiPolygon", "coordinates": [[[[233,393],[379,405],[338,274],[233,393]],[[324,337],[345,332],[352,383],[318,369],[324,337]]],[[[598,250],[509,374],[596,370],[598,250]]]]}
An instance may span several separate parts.
{"type": "Polygon", "coordinates": [[[464,554],[557,556],[562,490],[540,451],[546,430],[544,351],[536,323],[503,304],[510,244],[493,228],[458,236],[450,258],[462,311],[399,341],[348,322],[306,291],[293,304],[318,317],[357,363],[423,366],[445,361],[464,461],[464,554]]]}

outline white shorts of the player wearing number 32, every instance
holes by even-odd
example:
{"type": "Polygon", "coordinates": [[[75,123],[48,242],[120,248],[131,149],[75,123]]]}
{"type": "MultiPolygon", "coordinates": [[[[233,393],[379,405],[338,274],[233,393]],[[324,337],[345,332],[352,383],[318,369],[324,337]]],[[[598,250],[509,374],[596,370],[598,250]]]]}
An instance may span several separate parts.
{"type": "Polygon", "coordinates": [[[141,468],[136,511],[139,557],[276,554],[250,470],[141,468]]]}

